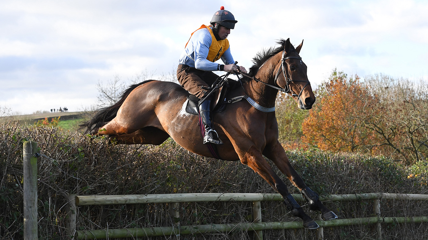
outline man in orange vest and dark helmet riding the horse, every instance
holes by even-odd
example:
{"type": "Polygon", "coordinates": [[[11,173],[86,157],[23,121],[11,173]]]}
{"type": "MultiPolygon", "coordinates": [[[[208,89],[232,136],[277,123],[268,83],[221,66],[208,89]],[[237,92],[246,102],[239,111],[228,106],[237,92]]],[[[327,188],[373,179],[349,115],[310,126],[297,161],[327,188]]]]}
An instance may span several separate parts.
{"type": "MultiPolygon", "coordinates": [[[[237,22],[233,14],[222,6],[212,17],[210,26],[202,25],[192,33],[178,61],[178,82],[199,98],[199,114],[205,129],[204,144],[223,144],[213,127],[210,109],[212,97],[202,103],[201,100],[208,95],[211,85],[219,77],[212,71],[234,73],[238,69],[226,39],[237,22]],[[220,58],[224,64],[215,63],[220,58]]],[[[239,69],[247,72],[244,67],[240,66],[239,69]]]]}

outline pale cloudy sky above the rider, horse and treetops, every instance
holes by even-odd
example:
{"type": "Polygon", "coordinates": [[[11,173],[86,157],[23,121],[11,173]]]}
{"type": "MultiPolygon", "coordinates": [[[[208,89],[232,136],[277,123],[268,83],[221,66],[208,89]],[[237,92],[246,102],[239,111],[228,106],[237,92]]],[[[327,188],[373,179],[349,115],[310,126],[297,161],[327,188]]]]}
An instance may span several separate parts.
{"type": "Polygon", "coordinates": [[[428,1],[1,0],[0,108],[87,110],[98,83],[175,76],[190,34],[220,6],[238,20],[228,39],[247,69],[290,38],[304,40],[313,89],[333,69],[428,81],[428,1]]]}

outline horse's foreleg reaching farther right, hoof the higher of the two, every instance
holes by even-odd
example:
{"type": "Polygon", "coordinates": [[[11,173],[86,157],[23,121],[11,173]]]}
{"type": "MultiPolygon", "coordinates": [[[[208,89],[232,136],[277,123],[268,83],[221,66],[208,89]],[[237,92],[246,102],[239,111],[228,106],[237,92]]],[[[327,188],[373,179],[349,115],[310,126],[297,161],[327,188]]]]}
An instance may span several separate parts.
{"type": "Polygon", "coordinates": [[[285,154],[284,148],[282,148],[279,142],[277,142],[277,144],[272,148],[265,148],[264,155],[275,163],[279,170],[288,177],[293,185],[299,188],[303,197],[308,201],[308,205],[311,210],[321,211],[321,218],[325,221],[337,218],[333,211],[330,211],[322,204],[321,200],[319,200],[318,194],[306,186],[305,182],[303,182],[303,179],[299,176],[299,174],[297,174],[293,166],[291,166],[287,154],[285,154]]]}

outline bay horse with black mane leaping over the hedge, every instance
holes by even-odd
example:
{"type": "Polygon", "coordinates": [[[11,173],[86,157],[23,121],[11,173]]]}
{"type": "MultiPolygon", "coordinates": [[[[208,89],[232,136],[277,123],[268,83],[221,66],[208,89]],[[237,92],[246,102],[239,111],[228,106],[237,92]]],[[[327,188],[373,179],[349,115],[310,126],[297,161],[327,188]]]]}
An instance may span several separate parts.
{"type": "MultiPolygon", "coordinates": [[[[296,48],[289,38],[277,43],[279,47],[266,49],[253,58],[254,65],[249,74],[243,76],[242,87],[229,91],[226,96],[246,95],[253,104],[246,98],[247,101],[228,104],[222,112],[214,113],[215,129],[224,142],[217,146],[219,156],[216,158],[239,160],[248,165],[281,194],[286,208],[303,220],[305,228],[315,229],[318,224],[294,200],[265,159],[272,160],[301,191],[311,210],[321,211],[323,220],[337,218],[303,182],[278,141],[274,111],[278,91],[288,93],[304,110],[312,108],[315,95],[306,74],[306,64],[299,56],[303,41],[296,48]]],[[[187,95],[184,88],[173,82],[144,81],[125,90],[113,106],[95,111],[80,128],[93,135],[113,137],[119,144],[160,145],[171,137],[190,152],[215,157],[202,143],[199,117],[185,111],[187,95]]]]}

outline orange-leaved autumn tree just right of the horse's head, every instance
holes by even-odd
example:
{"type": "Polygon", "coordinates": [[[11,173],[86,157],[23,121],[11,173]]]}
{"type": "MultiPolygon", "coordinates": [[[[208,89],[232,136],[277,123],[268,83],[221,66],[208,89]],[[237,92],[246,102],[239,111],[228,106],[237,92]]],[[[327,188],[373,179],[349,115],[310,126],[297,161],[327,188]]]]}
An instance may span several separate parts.
{"type": "Polygon", "coordinates": [[[329,80],[317,90],[317,102],[302,123],[305,143],[332,151],[361,151],[375,138],[361,124],[360,112],[372,108],[374,99],[368,95],[360,78],[348,78],[333,70],[329,80]]]}

